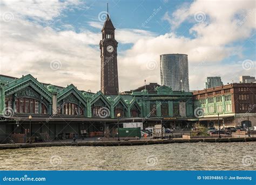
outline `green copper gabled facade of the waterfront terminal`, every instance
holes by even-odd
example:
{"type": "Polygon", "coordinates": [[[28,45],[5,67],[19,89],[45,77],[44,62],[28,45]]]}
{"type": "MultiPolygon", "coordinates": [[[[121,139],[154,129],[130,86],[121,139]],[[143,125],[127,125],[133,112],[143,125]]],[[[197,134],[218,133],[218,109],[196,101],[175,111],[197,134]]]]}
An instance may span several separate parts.
{"type": "Polygon", "coordinates": [[[76,118],[192,118],[192,93],[172,91],[160,86],[156,93],[132,92],[122,95],[104,95],[79,91],[73,84],[56,87],[39,83],[30,74],[6,84],[0,84],[0,108],[13,110],[15,115],[63,115],[76,118]],[[99,112],[105,111],[100,115],[99,112]],[[106,113],[106,114],[105,114],[106,113]]]}

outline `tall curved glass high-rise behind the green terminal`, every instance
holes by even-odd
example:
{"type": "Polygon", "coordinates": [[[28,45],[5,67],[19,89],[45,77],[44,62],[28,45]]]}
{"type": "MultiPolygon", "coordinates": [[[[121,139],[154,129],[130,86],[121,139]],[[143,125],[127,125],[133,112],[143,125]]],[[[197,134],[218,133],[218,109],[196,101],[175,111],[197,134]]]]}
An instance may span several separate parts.
{"type": "Polygon", "coordinates": [[[173,91],[189,92],[187,54],[161,54],[160,78],[161,85],[170,86],[173,91]]]}

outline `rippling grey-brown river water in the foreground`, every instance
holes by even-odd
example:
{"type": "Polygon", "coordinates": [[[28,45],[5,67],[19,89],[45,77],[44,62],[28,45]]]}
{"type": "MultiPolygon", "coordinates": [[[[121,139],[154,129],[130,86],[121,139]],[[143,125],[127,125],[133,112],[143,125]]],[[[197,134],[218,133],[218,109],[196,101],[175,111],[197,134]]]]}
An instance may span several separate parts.
{"type": "Polygon", "coordinates": [[[0,150],[0,170],[256,170],[256,142],[0,150]]]}

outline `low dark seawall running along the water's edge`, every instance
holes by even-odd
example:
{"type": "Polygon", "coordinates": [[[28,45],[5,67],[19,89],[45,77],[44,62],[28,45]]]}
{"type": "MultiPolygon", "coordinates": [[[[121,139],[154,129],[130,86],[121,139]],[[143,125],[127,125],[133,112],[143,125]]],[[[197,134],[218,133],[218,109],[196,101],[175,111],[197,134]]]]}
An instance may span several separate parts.
{"type": "Polygon", "coordinates": [[[130,141],[89,141],[89,142],[42,142],[42,143],[16,143],[3,144],[0,149],[16,149],[31,147],[55,147],[55,146],[134,146],[156,145],[183,142],[252,142],[256,138],[205,138],[205,139],[158,139],[158,140],[130,140],[130,141]]]}

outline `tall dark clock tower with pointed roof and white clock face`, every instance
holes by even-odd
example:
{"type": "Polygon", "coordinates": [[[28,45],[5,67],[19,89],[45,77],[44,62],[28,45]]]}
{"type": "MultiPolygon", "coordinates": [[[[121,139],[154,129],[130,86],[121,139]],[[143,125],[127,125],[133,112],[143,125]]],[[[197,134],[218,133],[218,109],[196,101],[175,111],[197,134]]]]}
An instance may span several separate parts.
{"type": "Polygon", "coordinates": [[[118,90],[118,72],[117,72],[117,44],[114,39],[114,26],[107,15],[102,29],[102,40],[100,40],[100,90],[105,95],[117,95],[118,90]]]}

